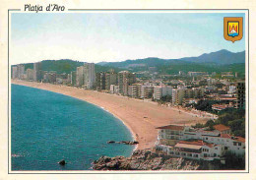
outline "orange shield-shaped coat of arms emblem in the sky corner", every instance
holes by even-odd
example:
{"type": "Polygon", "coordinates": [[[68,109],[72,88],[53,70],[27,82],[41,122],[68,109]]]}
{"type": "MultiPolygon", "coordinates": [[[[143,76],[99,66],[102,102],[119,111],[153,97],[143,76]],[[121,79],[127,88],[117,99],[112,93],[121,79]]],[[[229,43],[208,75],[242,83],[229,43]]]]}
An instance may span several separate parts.
{"type": "Polygon", "coordinates": [[[224,39],[232,42],[240,40],[243,35],[242,24],[241,17],[224,18],[224,39]]]}

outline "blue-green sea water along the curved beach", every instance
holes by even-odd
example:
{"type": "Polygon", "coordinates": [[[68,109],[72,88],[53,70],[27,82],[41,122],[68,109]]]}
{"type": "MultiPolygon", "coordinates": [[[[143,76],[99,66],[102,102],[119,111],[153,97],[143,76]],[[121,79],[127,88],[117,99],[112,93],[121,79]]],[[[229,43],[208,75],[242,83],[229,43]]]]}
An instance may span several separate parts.
{"type": "Polygon", "coordinates": [[[88,102],[47,90],[12,85],[12,170],[89,170],[101,155],[129,156],[130,131],[88,102]],[[65,166],[57,162],[65,159],[65,166]]]}

